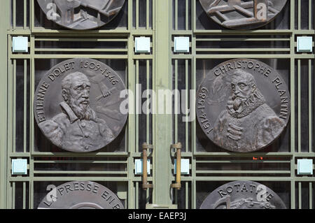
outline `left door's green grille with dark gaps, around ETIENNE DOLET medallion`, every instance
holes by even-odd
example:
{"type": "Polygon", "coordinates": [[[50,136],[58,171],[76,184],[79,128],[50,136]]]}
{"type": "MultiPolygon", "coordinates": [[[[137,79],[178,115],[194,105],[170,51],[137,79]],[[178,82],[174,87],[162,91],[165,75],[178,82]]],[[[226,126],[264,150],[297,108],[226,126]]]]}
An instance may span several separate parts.
{"type": "Polygon", "coordinates": [[[125,129],[111,145],[99,152],[75,154],[59,150],[45,139],[34,123],[32,103],[41,76],[51,66],[74,57],[108,64],[133,92],[137,84],[142,89],[151,88],[153,55],[135,54],[134,37],[153,40],[153,1],[127,0],[109,26],[76,32],[74,38],[72,31],[47,20],[36,0],[12,0],[10,8],[8,183],[1,182],[7,189],[6,199],[1,198],[6,200],[6,208],[37,208],[48,193],[48,185],[71,180],[99,182],[116,193],[125,208],[144,208],[152,199],[152,191],[139,188],[141,175],[134,175],[134,159],[140,159],[142,143],[153,141],[152,115],[130,114],[125,129]],[[12,52],[12,37],[20,35],[29,37],[29,53],[12,52]],[[15,158],[28,160],[27,176],[11,175],[11,159],[15,158]]]}

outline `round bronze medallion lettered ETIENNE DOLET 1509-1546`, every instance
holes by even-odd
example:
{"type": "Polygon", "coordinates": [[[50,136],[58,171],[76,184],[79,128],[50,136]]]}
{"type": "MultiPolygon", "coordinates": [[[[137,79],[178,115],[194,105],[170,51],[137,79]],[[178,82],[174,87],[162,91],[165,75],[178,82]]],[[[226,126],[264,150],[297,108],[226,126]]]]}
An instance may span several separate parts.
{"type": "Polygon", "coordinates": [[[52,67],[34,95],[34,116],[43,134],[71,152],[91,152],[111,143],[123,129],[125,84],[95,59],[68,59],[52,67]]]}

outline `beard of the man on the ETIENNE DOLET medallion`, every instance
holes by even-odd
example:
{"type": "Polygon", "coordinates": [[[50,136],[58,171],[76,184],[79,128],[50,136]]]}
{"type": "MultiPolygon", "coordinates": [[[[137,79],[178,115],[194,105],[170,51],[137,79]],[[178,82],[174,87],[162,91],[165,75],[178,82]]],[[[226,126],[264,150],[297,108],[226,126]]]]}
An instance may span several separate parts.
{"type": "Polygon", "coordinates": [[[73,110],[73,113],[80,120],[90,120],[90,118],[92,117],[92,109],[90,108],[89,104],[89,99],[75,100],[73,98],[70,98],[68,101],[68,105],[73,110]],[[85,102],[85,104],[82,103],[83,101],[85,102]]]}

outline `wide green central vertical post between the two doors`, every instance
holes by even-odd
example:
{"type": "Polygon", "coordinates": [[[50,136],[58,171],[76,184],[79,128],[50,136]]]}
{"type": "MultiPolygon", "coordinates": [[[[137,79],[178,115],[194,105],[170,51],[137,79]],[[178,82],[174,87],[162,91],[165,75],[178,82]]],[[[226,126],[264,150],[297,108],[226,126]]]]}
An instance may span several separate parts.
{"type": "MultiPolygon", "coordinates": [[[[155,27],[155,92],[159,90],[172,89],[172,61],[169,58],[171,49],[171,30],[169,26],[169,18],[172,17],[172,1],[155,1],[156,27],[155,27]]],[[[164,96],[161,96],[164,97],[164,96]]],[[[158,95],[156,102],[162,99],[158,95]]],[[[167,111],[167,109],[164,109],[167,111]]],[[[155,182],[159,185],[155,187],[155,203],[163,203],[165,205],[172,204],[169,196],[169,185],[171,185],[174,176],[172,175],[172,159],[169,156],[169,145],[172,144],[172,114],[155,115],[156,131],[155,141],[153,142],[155,151],[155,162],[159,164],[155,168],[155,182]]]]}

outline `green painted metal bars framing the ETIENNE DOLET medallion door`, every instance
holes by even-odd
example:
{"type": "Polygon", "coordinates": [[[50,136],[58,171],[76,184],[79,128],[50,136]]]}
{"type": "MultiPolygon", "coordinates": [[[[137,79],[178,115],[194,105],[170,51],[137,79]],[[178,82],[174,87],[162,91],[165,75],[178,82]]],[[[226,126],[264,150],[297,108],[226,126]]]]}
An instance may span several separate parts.
{"type": "MultiPolygon", "coordinates": [[[[18,0],[19,1],[19,0],[18,0]]],[[[120,182],[123,183],[123,191],[118,191],[119,194],[124,194],[124,197],[121,198],[125,200],[126,208],[139,208],[139,183],[141,182],[140,175],[134,175],[134,159],[139,159],[141,157],[141,150],[139,150],[139,143],[137,142],[139,124],[137,123],[139,120],[139,115],[130,114],[127,121],[126,128],[126,144],[125,144],[125,152],[91,152],[89,154],[74,154],[70,152],[59,152],[54,154],[52,152],[36,152],[34,151],[34,118],[33,112],[30,110],[29,120],[30,120],[30,128],[29,128],[29,148],[30,151],[27,151],[27,140],[26,140],[26,131],[24,131],[24,148],[23,152],[16,152],[15,150],[15,110],[16,110],[16,99],[15,99],[15,86],[16,86],[16,64],[17,60],[24,61],[26,65],[29,62],[29,73],[30,73],[30,86],[29,86],[29,94],[30,101],[26,100],[26,96],[24,99],[25,104],[29,103],[29,107],[32,108],[33,97],[34,97],[34,80],[35,80],[35,59],[69,59],[73,57],[83,57],[83,58],[94,58],[94,59],[116,59],[116,60],[125,60],[126,66],[126,81],[128,89],[131,89],[135,92],[135,86],[139,81],[139,60],[146,61],[146,71],[147,78],[149,75],[150,69],[153,75],[153,86],[155,82],[155,64],[153,54],[135,54],[134,53],[134,37],[136,36],[149,36],[152,40],[152,48],[153,51],[155,49],[155,31],[153,31],[155,27],[155,15],[157,13],[151,12],[149,8],[149,3],[153,4],[153,9],[155,8],[155,1],[145,0],[146,1],[146,27],[139,26],[139,0],[127,0],[127,28],[117,28],[113,30],[95,30],[95,31],[58,31],[53,29],[44,29],[38,28],[34,26],[34,1],[36,0],[28,0],[29,8],[27,8],[27,0],[24,1],[24,26],[17,27],[16,26],[16,2],[17,0],[13,0],[13,12],[10,12],[10,1],[6,1],[6,5],[1,8],[3,10],[3,14],[1,16],[5,17],[6,20],[1,20],[1,65],[3,68],[8,66],[8,71],[4,72],[7,75],[1,75],[1,91],[3,91],[2,95],[5,95],[4,98],[1,98],[1,106],[2,108],[7,108],[3,110],[3,115],[1,115],[1,208],[15,208],[15,187],[16,183],[22,182],[22,191],[23,191],[23,208],[26,207],[26,196],[29,196],[29,208],[36,208],[36,204],[34,204],[34,183],[38,181],[69,181],[69,180],[95,180],[101,182],[118,182],[118,187],[120,182]],[[132,26],[132,15],[133,15],[133,3],[136,4],[136,21],[137,24],[135,27],[132,26]],[[29,10],[29,27],[27,27],[27,17],[26,12],[29,10]],[[13,25],[10,27],[10,13],[13,13],[13,25]],[[152,15],[152,27],[149,25],[150,15],[152,15]],[[3,21],[3,22],[2,22],[3,21]],[[104,54],[102,55],[94,55],[95,49],[71,49],[71,48],[59,48],[59,49],[51,49],[51,48],[36,48],[36,41],[73,41],[72,36],[76,34],[76,37],[80,37],[80,39],[76,39],[76,41],[84,40],[84,41],[117,41],[117,42],[125,42],[125,49],[100,49],[99,52],[104,54]],[[28,54],[15,54],[11,49],[12,45],[12,36],[28,36],[29,37],[29,50],[28,54]],[[3,48],[3,49],[2,49],[3,48]],[[51,53],[51,51],[64,52],[62,55],[56,55],[51,53]],[[45,54],[41,54],[41,52],[45,52],[45,54]],[[67,52],[72,52],[72,54],[67,54],[67,52]],[[76,54],[74,52],[80,52],[83,54],[76,54]],[[113,52],[113,53],[112,53],[113,52]],[[123,54],[116,55],[114,52],[120,52],[123,54]],[[152,62],[150,65],[150,62],[152,62]],[[8,81],[6,81],[8,79],[8,81]],[[6,117],[6,115],[8,117],[6,117]],[[6,125],[8,124],[8,126],[6,125]],[[3,139],[3,140],[2,140],[3,139]],[[38,157],[78,157],[83,160],[73,161],[49,161],[49,160],[38,160],[38,157]],[[104,157],[104,158],[120,158],[119,161],[91,161],[84,160],[84,158],[91,157],[104,157]],[[25,158],[28,159],[28,168],[29,173],[27,176],[12,176],[10,173],[10,162],[13,158],[25,158]],[[123,161],[121,160],[123,159],[123,161]],[[34,166],[36,164],[57,164],[57,163],[91,163],[91,164],[123,164],[125,165],[125,171],[36,171],[34,166]],[[56,174],[77,174],[80,173],[80,176],[53,176],[56,174]],[[50,174],[50,175],[46,175],[50,174]],[[93,176],[87,176],[88,174],[92,174],[93,176]],[[52,175],[52,176],[51,176],[52,175]],[[106,175],[106,176],[104,176],[106,175]],[[114,176],[111,175],[121,175],[114,176]],[[29,187],[29,194],[26,194],[26,187],[29,187]],[[125,191],[124,191],[125,190],[125,191]],[[127,194],[127,196],[125,196],[127,194]]],[[[5,69],[6,70],[6,69],[5,69]]],[[[27,66],[24,69],[25,80],[27,78],[27,66]]],[[[25,82],[26,86],[26,82],[25,82]]],[[[148,87],[148,85],[146,86],[148,87]]],[[[153,87],[154,88],[154,87],[153,87]]],[[[25,87],[25,93],[26,87],[25,87]]],[[[26,95],[26,94],[25,94],[26,95]]],[[[26,110],[25,106],[25,110],[26,110]]],[[[25,114],[26,115],[26,114],[25,114]]],[[[27,128],[27,119],[24,117],[24,130],[27,128]]],[[[147,115],[147,121],[149,120],[149,115],[147,115]]],[[[155,120],[152,120],[153,127],[155,127],[155,120]]],[[[155,140],[154,129],[149,129],[149,125],[147,124],[147,141],[149,142],[149,132],[153,134],[153,141],[155,140]]],[[[153,162],[154,166],[154,162],[153,162]]],[[[151,168],[153,168],[151,166],[151,168]]],[[[153,177],[148,178],[149,181],[153,181],[153,177]]],[[[118,188],[119,189],[119,188],[118,188]]],[[[146,192],[146,198],[149,199],[149,190],[146,192]]]]}

